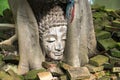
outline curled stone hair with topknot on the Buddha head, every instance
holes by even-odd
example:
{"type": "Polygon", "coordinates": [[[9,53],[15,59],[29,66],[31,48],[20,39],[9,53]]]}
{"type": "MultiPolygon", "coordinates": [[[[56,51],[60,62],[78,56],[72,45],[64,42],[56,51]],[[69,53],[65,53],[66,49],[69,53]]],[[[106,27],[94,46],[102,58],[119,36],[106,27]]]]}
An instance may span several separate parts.
{"type": "Polygon", "coordinates": [[[67,21],[62,8],[60,6],[54,6],[46,13],[46,15],[43,15],[38,24],[41,38],[51,27],[67,26],[67,21]]]}

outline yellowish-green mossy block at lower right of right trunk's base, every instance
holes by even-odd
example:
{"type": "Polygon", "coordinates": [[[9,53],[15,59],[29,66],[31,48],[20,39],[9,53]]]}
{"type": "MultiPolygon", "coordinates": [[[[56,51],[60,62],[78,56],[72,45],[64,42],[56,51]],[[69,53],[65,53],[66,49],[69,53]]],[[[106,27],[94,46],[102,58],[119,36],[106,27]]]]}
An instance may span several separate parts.
{"type": "Polygon", "coordinates": [[[104,63],[108,62],[109,58],[104,55],[97,55],[95,57],[90,58],[89,63],[94,66],[101,66],[104,63]]]}

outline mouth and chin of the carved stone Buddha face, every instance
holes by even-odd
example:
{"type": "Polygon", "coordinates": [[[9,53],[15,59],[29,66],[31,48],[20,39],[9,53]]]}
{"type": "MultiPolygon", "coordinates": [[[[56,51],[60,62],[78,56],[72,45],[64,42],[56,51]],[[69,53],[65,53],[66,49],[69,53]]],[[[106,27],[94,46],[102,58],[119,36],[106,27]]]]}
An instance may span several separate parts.
{"type": "Polygon", "coordinates": [[[48,56],[54,61],[59,61],[63,59],[63,53],[59,53],[59,52],[54,52],[54,53],[51,52],[48,56]]]}

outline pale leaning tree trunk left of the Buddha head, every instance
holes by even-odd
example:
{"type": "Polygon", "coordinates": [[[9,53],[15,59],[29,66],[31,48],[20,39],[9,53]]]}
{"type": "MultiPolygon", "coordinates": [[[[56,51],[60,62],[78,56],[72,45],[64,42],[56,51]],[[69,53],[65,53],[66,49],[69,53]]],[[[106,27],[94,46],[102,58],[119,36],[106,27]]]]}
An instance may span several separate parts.
{"type": "Polygon", "coordinates": [[[38,25],[32,9],[27,0],[9,0],[9,4],[18,35],[20,54],[18,72],[24,74],[29,69],[40,69],[44,56],[39,45],[38,25]]]}

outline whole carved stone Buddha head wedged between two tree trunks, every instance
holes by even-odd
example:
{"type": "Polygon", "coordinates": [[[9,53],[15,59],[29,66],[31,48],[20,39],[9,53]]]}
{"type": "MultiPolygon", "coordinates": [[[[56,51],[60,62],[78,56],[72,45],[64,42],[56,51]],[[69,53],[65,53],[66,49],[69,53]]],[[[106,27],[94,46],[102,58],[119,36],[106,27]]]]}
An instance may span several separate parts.
{"type": "Polygon", "coordinates": [[[60,6],[54,6],[39,23],[40,44],[48,60],[63,59],[66,31],[64,12],[60,6]]]}

